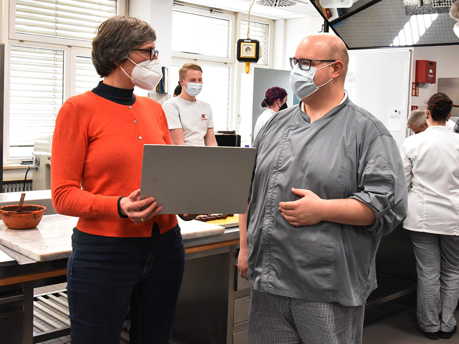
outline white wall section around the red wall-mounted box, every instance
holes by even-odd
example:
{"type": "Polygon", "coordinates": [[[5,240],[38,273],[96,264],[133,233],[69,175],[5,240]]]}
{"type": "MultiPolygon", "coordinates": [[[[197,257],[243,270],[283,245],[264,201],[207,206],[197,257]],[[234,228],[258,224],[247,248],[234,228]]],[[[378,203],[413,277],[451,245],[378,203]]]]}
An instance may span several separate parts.
{"type": "Polygon", "coordinates": [[[437,62],[437,80],[434,84],[420,83],[419,97],[411,97],[411,105],[418,105],[420,110],[425,110],[425,103],[434,93],[438,92],[438,78],[459,77],[459,45],[444,45],[433,47],[418,47],[413,49],[413,74],[416,73],[416,60],[429,60],[437,62]]]}

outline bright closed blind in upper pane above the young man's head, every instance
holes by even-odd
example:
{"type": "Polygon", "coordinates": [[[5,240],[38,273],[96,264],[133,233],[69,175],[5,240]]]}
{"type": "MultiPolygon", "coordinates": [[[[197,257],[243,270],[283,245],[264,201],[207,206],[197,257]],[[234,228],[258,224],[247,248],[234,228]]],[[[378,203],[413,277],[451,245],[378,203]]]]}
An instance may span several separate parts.
{"type": "Polygon", "coordinates": [[[173,11],[172,50],[229,57],[229,20],[173,11]]]}

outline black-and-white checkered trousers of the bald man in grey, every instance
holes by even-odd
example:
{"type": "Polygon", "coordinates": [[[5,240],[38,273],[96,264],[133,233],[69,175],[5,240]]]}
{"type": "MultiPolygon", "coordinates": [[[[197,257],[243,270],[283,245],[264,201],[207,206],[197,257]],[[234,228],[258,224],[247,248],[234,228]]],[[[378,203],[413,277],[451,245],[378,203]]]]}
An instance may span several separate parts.
{"type": "Polygon", "coordinates": [[[364,306],[343,306],[252,288],[247,344],[361,344],[364,306]]]}

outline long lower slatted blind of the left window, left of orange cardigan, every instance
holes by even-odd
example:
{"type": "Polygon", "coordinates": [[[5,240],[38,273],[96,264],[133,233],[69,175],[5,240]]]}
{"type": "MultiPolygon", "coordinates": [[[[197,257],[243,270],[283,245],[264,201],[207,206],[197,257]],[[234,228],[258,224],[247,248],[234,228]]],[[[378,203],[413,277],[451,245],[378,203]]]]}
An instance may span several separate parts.
{"type": "Polygon", "coordinates": [[[31,157],[34,141],[51,135],[63,102],[64,52],[11,46],[9,157],[31,157]]]}

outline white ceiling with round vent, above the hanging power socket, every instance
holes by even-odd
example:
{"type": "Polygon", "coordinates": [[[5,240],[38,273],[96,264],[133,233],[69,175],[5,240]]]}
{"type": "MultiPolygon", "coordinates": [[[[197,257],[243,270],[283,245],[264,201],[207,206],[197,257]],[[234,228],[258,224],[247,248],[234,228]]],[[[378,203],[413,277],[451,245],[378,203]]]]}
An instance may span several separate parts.
{"type": "MultiPolygon", "coordinates": [[[[204,5],[207,7],[241,12],[247,14],[253,0],[185,0],[188,4],[204,5]]],[[[269,19],[293,19],[320,16],[319,12],[311,5],[309,0],[294,0],[297,4],[288,7],[271,7],[257,4],[252,6],[250,14],[269,19]]]]}

